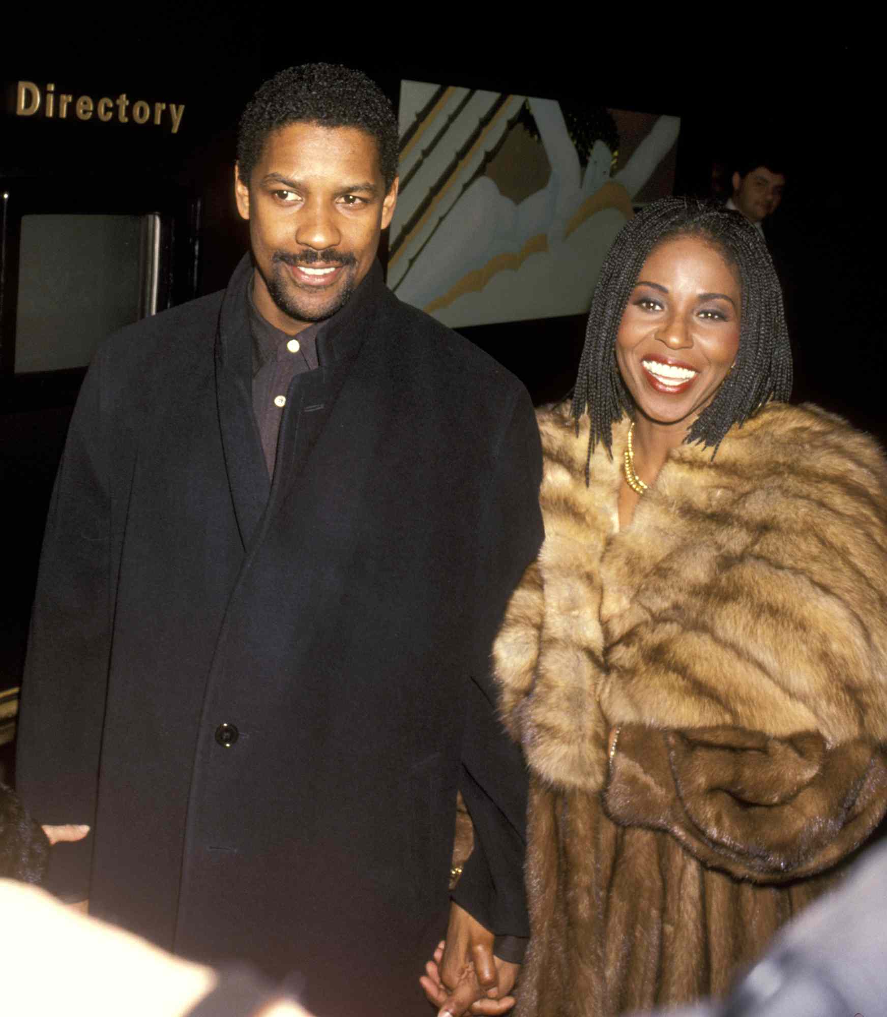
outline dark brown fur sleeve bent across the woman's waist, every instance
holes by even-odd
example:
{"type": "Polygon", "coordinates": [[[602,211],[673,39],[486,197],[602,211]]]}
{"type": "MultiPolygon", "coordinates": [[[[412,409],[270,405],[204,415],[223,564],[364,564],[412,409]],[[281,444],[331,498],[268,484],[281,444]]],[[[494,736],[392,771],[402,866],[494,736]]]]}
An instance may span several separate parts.
{"type": "Polygon", "coordinates": [[[614,822],[663,830],[704,864],[772,883],[822,872],[859,847],[887,806],[887,755],[818,734],[740,728],[619,732],[604,792],[614,822]]]}

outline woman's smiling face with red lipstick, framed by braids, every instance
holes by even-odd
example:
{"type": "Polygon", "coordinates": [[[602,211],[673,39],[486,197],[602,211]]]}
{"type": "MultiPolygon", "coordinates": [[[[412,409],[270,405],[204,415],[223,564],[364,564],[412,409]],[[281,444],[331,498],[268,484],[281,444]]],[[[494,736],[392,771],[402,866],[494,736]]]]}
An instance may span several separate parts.
{"type": "Polygon", "coordinates": [[[705,239],[678,236],[650,252],[616,335],[619,372],[644,416],[693,423],[735,360],[741,309],[735,270],[705,239]]]}

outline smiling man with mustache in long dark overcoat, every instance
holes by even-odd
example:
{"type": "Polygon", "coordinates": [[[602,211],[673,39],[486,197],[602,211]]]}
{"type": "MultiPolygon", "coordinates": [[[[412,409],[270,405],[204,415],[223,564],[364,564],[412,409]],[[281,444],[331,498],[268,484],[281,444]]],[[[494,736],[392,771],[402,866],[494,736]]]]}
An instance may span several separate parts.
{"type": "Polygon", "coordinates": [[[539,442],[520,383],[383,284],[397,144],[345,68],[247,107],[251,257],[83,383],[18,738],[35,817],[92,828],[52,848],[56,892],[343,1017],[427,1011],[448,911],[450,981],[474,960],[499,1002],[528,935],[488,657],[541,542],[539,442]]]}

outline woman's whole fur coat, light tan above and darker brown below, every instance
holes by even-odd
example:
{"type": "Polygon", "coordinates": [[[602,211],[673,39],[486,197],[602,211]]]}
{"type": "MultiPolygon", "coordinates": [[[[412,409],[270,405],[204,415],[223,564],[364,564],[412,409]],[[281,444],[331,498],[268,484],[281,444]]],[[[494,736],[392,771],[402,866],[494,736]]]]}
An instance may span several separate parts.
{"type": "Polygon", "coordinates": [[[770,405],[619,532],[628,422],[588,487],[587,418],[540,429],[545,543],[494,650],[531,769],[518,1012],[721,994],[887,806],[887,465],[770,405]]]}

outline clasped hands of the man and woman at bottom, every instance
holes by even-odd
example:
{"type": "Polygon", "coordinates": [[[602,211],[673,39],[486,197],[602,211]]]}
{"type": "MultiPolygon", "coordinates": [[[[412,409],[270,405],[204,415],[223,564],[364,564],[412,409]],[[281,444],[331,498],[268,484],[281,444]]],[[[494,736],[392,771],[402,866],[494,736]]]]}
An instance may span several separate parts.
{"type": "Polygon", "coordinates": [[[419,979],[440,1017],[466,1013],[496,1017],[515,1005],[510,994],[521,966],[494,957],[493,940],[488,929],[451,904],[447,939],[437,945],[419,979]]]}

